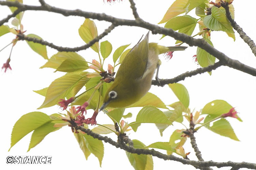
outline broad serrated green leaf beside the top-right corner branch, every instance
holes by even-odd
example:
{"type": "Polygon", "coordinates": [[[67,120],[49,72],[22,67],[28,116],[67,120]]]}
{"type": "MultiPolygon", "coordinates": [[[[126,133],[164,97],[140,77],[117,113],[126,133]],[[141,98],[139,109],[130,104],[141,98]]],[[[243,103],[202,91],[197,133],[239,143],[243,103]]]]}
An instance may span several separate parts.
{"type": "Polygon", "coordinates": [[[226,15],[216,6],[212,7],[212,14],[203,20],[204,25],[214,31],[224,31],[234,33],[233,27],[228,21],[226,15]]]}

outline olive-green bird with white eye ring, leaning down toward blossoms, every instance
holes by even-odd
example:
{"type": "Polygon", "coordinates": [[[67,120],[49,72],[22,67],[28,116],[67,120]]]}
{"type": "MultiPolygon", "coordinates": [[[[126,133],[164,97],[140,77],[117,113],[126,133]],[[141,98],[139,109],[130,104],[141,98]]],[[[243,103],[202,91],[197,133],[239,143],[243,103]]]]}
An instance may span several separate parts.
{"type": "Polygon", "coordinates": [[[149,32],[126,55],[112,86],[103,99],[100,111],[105,107],[127,107],[140,100],[150,89],[158,64],[158,55],[169,51],[182,51],[187,47],[165,47],[148,43],[149,32]]]}

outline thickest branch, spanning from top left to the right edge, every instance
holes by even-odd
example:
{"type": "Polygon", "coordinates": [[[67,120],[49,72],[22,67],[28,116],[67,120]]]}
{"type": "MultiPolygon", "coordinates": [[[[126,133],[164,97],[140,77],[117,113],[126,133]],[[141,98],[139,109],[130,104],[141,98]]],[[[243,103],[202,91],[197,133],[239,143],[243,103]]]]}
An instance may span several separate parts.
{"type": "MultiPolygon", "coordinates": [[[[0,5],[16,6],[20,9],[20,11],[27,11],[27,10],[49,11],[49,12],[59,13],[64,16],[74,15],[74,16],[81,16],[81,17],[92,18],[92,19],[97,19],[97,20],[105,20],[105,21],[112,22],[116,26],[126,25],[126,26],[136,26],[136,27],[145,28],[145,29],[151,30],[153,34],[157,34],[157,33],[165,34],[165,35],[175,38],[176,40],[181,40],[184,43],[187,43],[189,46],[198,46],[201,49],[207,51],[211,55],[218,58],[219,61],[221,61],[223,63],[223,65],[226,65],[228,67],[231,67],[231,68],[243,71],[245,73],[251,74],[253,76],[256,76],[255,68],[244,65],[237,60],[233,60],[233,59],[229,58],[224,53],[216,50],[213,46],[208,44],[207,41],[205,41],[204,39],[195,39],[186,34],[175,32],[172,29],[162,28],[157,25],[145,22],[142,19],[136,19],[136,20],[119,19],[119,18],[115,18],[115,17],[109,16],[106,14],[84,12],[81,10],[64,10],[64,9],[53,7],[50,5],[44,5],[44,6],[24,5],[24,4],[18,3],[17,1],[15,1],[15,2],[0,1],[0,5]]],[[[4,22],[7,22],[9,19],[5,19],[5,21],[0,21],[0,23],[3,24],[4,22]]],[[[56,46],[56,48],[57,48],[57,46],[56,46]]]]}

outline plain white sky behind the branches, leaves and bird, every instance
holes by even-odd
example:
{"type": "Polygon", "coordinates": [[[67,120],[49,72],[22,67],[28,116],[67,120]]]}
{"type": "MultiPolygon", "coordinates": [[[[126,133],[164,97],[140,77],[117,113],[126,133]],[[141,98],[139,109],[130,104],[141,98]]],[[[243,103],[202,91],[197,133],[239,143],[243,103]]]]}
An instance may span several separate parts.
{"type": "MultiPolygon", "coordinates": [[[[235,9],[235,21],[243,28],[245,33],[253,40],[256,39],[255,34],[255,22],[254,22],[254,6],[255,0],[244,1],[234,0],[233,5],[235,9]]],[[[111,5],[103,0],[46,0],[46,3],[65,8],[69,10],[75,10],[77,8],[88,11],[105,13],[118,18],[133,19],[132,10],[128,0],[124,0],[120,3],[113,3],[111,5]]],[[[139,16],[150,23],[157,24],[166,13],[171,1],[154,1],[154,0],[136,0],[136,7],[139,16]]],[[[36,0],[24,0],[24,4],[40,5],[36,0]]],[[[0,20],[11,14],[11,11],[6,6],[0,6],[0,20]]],[[[195,16],[195,10],[188,13],[188,15],[195,16]]],[[[78,34],[78,29],[84,22],[83,17],[69,16],[65,17],[60,14],[54,14],[41,11],[26,11],[22,24],[24,30],[27,30],[26,34],[36,34],[42,37],[48,42],[52,42],[57,46],[62,47],[78,47],[84,45],[84,41],[78,34]]],[[[111,23],[106,21],[94,20],[98,28],[99,34],[101,34],[111,23]]],[[[8,22],[11,26],[11,20],[8,22]]],[[[5,23],[6,24],[6,23],[5,23]]],[[[164,26],[164,24],[161,24],[164,26]]],[[[121,45],[130,44],[133,47],[141,36],[146,34],[148,30],[138,27],[119,26],[116,27],[109,35],[102,38],[101,41],[108,40],[113,46],[113,51],[121,45]]],[[[195,35],[198,32],[198,26],[195,35]]],[[[256,68],[256,57],[251,52],[251,49],[247,44],[239,37],[235,32],[236,41],[228,37],[224,32],[211,32],[211,41],[216,49],[224,52],[228,57],[256,68]]],[[[161,35],[150,34],[150,42],[157,42],[160,45],[174,46],[175,40],[171,37],[165,37],[159,40],[161,35]]],[[[8,33],[0,37],[0,49],[9,44],[11,40],[15,38],[15,35],[8,33]]],[[[196,38],[201,38],[196,36],[196,38]]],[[[186,45],[186,44],[185,44],[186,45]]],[[[187,45],[186,45],[187,46],[187,45]]],[[[0,53],[0,66],[6,62],[9,57],[11,46],[4,49],[0,53]]],[[[57,53],[56,50],[47,47],[48,57],[57,53]]],[[[83,50],[78,52],[87,61],[93,58],[98,60],[96,53],[91,50],[83,50]]],[[[112,54],[108,60],[105,61],[105,68],[107,64],[113,63],[112,54]]],[[[194,63],[192,56],[196,54],[196,47],[189,47],[184,52],[174,52],[170,61],[164,59],[162,55],[159,58],[162,61],[160,67],[159,78],[173,78],[186,71],[191,71],[199,68],[194,63]]],[[[63,127],[60,130],[50,133],[45,139],[35,148],[32,148],[27,152],[31,133],[20,140],[10,152],[10,138],[12,127],[15,122],[24,114],[34,111],[40,111],[47,115],[66,111],[61,111],[58,106],[52,106],[37,110],[37,108],[43,103],[44,97],[36,94],[32,90],[39,90],[48,87],[51,82],[65,73],[56,72],[54,69],[44,68],[39,69],[46,63],[40,55],[30,49],[25,41],[18,41],[14,46],[10,65],[12,71],[3,70],[0,73],[0,103],[1,103],[1,145],[0,145],[0,167],[3,169],[17,169],[26,168],[30,169],[53,169],[53,168],[65,168],[65,169],[117,169],[122,168],[124,170],[132,169],[131,164],[125,154],[125,151],[116,149],[114,146],[104,143],[104,157],[102,160],[102,168],[99,166],[98,159],[94,155],[90,155],[88,160],[85,159],[83,152],[80,150],[79,145],[71,133],[70,127],[63,127]],[[20,164],[6,164],[5,159],[7,156],[52,156],[51,165],[20,165],[20,164]]],[[[243,122],[239,122],[234,118],[227,118],[233,127],[239,141],[234,141],[227,137],[220,136],[209,131],[206,128],[201,128],[195,133],[196,141],[199,150],[202,153],[204,160],[213,160],[216,162],[227,162],[229,160],[233,162],[251,162],[256,163],[255,159],[255,140],[254,140],[254,124],[256,120],[255,114],[255,84],[256,78],[252,75],[248,75],[238,70],[234,70],[227,66],[217,68],[212,72],[212,76],[208,73],[193,76],[192,78],[186,78],[185,81],[181,81],[185,85],[189,92],[191,110],[195,108],[199,111],[205,104],[216,99],[222,99],[227,101],[239,112],[239,116],[243,122]]],[[[150,92],[156,94],[165,104],[171,104],[177,101],[177,98],[166,85],[165,87],[152,86],[150,92]]],[[[136,119],[137,113],[140,108],[135,110],[127,109],[128,112],[133,113],[133,118],[126,119],[128,122],[132,122],[136,119]]],[[[93,111],[87,112],[87,117],[91,117],[93,111]]],[[[108,124],[112,121],[104,115],[102,112],[97,117],[97,123],[108,124]]],[[[185,122],[189,127],[188,122],[185,122]]],[[[90,127],[89,128],[93,128],[90,127]]],[[[184,126],[174,123],[174,126],[170,126],[163,132],[163,137],[154,124],[142,124],[137,133],[130,131],[130,139],[138,139],[142,141],[146,146],[157,141],[167,142],[169,137],[175,129],[182,129],[184,126]]],[[[115,134],[108,134],[113,140],[117,140],[115,134]]],[[[191,152],[188,157],[191,160],[198,160],[195,156],[194,150],[191,148],[190,139],[184,145],[186,152],[191,152]]],[[[159,150],[162,153],[166,153],[164,150],[159,150]]],[[[154,169],[160,169],[165,167],[166,169],[195,169],[192,166],[182,165],[179,162],[164,161],[162,159],[153,157],[154,169]]],[[[214,167],[214,169],[217,169],[214,167]]],[[[230,168],[221,168],[230,169],[230,168]]]]}

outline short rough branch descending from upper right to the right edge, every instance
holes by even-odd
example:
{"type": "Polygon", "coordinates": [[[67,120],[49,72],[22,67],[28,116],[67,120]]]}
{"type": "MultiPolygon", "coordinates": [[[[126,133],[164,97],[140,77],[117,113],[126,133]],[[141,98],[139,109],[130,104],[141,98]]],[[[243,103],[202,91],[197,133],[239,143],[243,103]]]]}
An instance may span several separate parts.
{"type": "Polygon", "coordinates": [[[243,31],[243,29],[236,23],[236,21],[234,21],[230,15],[230,11],[229,11],[229,6],[228,3],[221,3],[221,5],[225,8],[226,10],[226,16],[228,18],[228,20],[231,23],[231,26],[239,33],[240,37],[244,40],[244,42],[246,44],[248,44],[248,46],[251,48],[253,54],[256,56],[256,45],[253,42],[253,40],[247,36],[245,34],[245,32],[243,31]]]}

